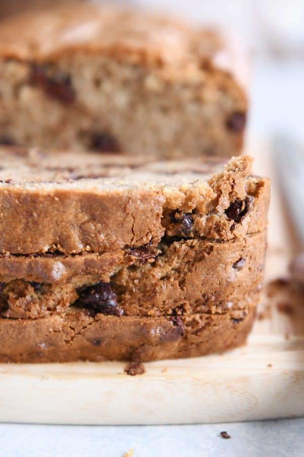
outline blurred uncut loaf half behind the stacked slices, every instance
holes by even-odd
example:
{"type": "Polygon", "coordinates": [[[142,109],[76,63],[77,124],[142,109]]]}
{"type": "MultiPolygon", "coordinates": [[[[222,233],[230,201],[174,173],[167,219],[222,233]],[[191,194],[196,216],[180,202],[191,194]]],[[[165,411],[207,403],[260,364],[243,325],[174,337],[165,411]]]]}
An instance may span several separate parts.
{"type": "Polygon", "coordinates": [[[0,142],[137,155],[240,153],[244,58],[193,24],[77,5],[0,24],[0,142]]]}

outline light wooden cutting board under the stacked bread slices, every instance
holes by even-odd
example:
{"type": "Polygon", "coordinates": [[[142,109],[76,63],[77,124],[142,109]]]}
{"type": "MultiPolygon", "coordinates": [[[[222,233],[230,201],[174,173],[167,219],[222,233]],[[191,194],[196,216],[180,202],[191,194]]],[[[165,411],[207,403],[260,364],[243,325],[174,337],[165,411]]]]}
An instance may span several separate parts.
{"type": "MultiPolygon", "coordinates": [[[[249,150],[256,156],[255,172],[273,179],[270,281],[286,274],[293,244],[269,148],[255,142],[249,150]]],[[[267,307],[267,299],[262,304],[267,307]]],[[[126,375],[126,364],[117,362],[0,365],[0,420],[107,425],[304,415],[300,305],[292,311],[281,303],[288,313],[273,307],[271,318],[256,321],[244,347],[223,355],[147,363],[140,376],[126,375]]]]}

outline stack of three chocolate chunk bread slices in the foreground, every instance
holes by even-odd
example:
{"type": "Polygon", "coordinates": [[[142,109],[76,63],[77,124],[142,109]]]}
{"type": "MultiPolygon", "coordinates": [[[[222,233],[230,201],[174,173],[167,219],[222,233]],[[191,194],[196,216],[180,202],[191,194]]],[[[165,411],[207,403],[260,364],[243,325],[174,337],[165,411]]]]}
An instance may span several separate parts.
{"type": "Polygon", "coordinates": [[[250,157],[1,156],[0,362],[148,361],[245,341],[269,204],[250,157]]]}

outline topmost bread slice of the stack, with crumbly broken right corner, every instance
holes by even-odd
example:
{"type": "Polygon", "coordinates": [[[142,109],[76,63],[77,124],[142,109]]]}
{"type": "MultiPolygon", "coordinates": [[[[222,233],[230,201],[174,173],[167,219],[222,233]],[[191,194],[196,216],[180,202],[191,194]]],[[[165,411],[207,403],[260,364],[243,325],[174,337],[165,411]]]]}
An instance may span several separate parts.
{"type": "Polygon", "coordinates": [[[251,158],[144,157],[0,148],[0,252],[109,252],[163,237],[262,231],[269,180],[251,158]]]}

